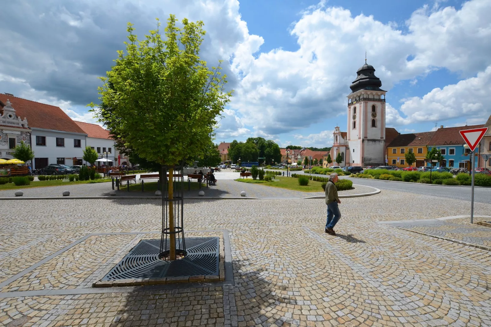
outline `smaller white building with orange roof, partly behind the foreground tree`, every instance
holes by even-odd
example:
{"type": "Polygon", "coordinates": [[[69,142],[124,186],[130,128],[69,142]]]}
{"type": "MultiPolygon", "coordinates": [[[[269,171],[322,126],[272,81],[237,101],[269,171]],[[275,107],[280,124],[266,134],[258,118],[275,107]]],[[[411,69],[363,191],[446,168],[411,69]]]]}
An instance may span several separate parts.
{"type": "MultiPolygon", "coordinates": [[[[75,123],[87,134],[85,137],[85,144],[96,150],[99,154],[99,158],[107,158],[112,160],[108,162],[108,166],[117,164],[117,156],[115,156],[114,140],[109,137],[109,131],[102,128],[97,124],[84,123],[81,121],[75,121],[75,123]]],[[[85,163],[84,163],[85,164],[85,163]]],[[[97,163],[99,166],[101,162],[97,163]]]]}

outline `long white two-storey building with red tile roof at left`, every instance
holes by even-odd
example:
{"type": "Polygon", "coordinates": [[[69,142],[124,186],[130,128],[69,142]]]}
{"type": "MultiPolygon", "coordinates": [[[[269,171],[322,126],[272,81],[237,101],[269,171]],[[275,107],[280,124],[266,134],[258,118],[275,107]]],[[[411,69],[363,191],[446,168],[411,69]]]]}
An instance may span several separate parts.
{"type": "MultiPolygon", "coordinates": [[[[59,107],[0,94],[9,100],[17,116],[27,117],[34,151],[34,169],[48,164],[82,164],[87,134],[59,107]]],[[[2,106],[4,107],[4,106],[2,106]]]]}

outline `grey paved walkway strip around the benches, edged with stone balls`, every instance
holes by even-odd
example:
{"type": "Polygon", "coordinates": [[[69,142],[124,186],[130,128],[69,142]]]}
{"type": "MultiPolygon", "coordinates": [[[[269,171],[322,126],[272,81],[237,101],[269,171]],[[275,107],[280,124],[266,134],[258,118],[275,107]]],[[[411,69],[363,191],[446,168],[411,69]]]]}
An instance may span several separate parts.
{"type": "MultiPolygon", "coordinates": [[[[226,174],[226,173],[222,173],[226,174]]],[[[235,173],[228,173],[235,174],[235,173]]],[[[149,180],[152,181],[152,180],[149,180]]],[[[155,180],[157,181],[157,180],[155,180]]],[[[95,183],[95,184],[77,184],[70,185],[67,182],[66,186],[52,186],[43,188],[27,188],[19,190],[24,191],[25,197],[61,197],[61,193],[65,190],[70,191],[70,196],[109,196],[111,190],[111,183],[95,183]]],[[[187,191],[187,185],[185,184],[185,196],[194,197],[198,196],[199,190],[187,191]]],[[[248,197],[256,198],[302,198],[310,196],[324,195],[324,191],[320,192],[301,192],[292,191],[279,188],[273,188],[260,184],[248,184],[242,182],[236,182],[231,179],[218,180],[217,186],[202,187],[201,190],[205,192],[207,197],[236,197],[240,196],[241,191],[246,191],[248,197]]],[[[3,190],[0,191],[0,197],[15,197],[14,193],[17,190],[3,190]]],[[[355,186],[354,190],[340,191],[342,194],[359,194],[373,192],[375,189],[366,186],[355,186]]],[[[117,191],[116,195],[120,196],[154,196],[154,192],[141,192],[141,191],[125,191],[125,187],[121,187],[120,191],[117,191]]]]}

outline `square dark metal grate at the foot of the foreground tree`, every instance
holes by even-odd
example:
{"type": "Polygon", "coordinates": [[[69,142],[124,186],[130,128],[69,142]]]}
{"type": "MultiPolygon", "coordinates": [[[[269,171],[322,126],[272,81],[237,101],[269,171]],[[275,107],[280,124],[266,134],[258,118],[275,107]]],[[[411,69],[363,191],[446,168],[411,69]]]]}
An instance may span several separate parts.
{"type": "Polygon", "coordinates": [[[160,239],[141,240],[102,280],[218,275],[219,238],[188,238],[185,242],[188,255],[168,262],[159,259],[160,239]]]}

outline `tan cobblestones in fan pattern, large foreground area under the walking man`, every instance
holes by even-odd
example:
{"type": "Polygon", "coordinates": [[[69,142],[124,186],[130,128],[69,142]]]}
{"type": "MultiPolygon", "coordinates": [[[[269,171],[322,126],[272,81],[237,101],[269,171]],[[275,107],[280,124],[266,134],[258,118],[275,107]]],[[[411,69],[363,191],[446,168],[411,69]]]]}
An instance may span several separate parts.
{"type": "MultiPolygon", "coordinates": [[[[323,199],[188,200],[187,230],[208,230],[190,236],[228,230],[230,284],[82,294],[141,238],[155,238],[160,202],[3,200],[0,325],[491,326],[489,251],[377,223],[469,213],[468,201],[436,203],[398,191],[346,198],[330,236],[323,199]],[[89,233],[142,231],[90,236],[5,284],[89,233]]],[[[475,204],[476,215],[490,210],[475,204]]]]}

